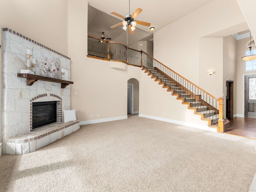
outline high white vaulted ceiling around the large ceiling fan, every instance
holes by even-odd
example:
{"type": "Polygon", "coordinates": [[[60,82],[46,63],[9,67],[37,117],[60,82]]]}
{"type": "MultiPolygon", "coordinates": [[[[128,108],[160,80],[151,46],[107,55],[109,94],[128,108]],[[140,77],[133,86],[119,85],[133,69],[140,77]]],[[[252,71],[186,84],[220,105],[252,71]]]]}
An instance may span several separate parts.
{"type": "MultiPolygon", "coordinates": [[[[166,25],[190,14],[191,12],[209,4],[213,0],[130,0],[130,14],[138,7],[143,11],[136,20],[149,22],[155,28],[154,32],[166,25]]],[[[122,16],[129,14],[129,0],[88,0],[88,35],[99,37],[102,32],[106,38],[112,41],[126,44],[127,32],[118,26],[110,28],[122,22],[122,18],[110,14],[114,11],[122,16]]],[[[151,27],[150,26],[150,27],[151,27]]],[[[128,45],[140,40],[153,38],[150,27],[137,25],[133,35],[128,33],[128,45]]]]}

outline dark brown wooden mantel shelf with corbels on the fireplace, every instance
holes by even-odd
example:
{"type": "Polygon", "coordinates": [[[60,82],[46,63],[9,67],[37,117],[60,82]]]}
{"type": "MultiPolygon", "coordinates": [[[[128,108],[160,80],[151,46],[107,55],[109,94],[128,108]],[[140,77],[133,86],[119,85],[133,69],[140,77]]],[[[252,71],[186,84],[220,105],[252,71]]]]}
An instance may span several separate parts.
{"type": "Polygon", "coordinates": [[[17,77],[26,78],[27,79],[27,85],[30,85],[30,86],[38,80],[61,83],[61,88],[65,88],[69,84],[74,84],[74,82],[72,82],[72,81],[66,81],[66,80],[61,80],[61,79],[55,79],[55,78],[44,77],[44,76],[39,76],[39,75],[33,75],[33,74],[29,74],[29,73],[18,73],[17,77]]]}

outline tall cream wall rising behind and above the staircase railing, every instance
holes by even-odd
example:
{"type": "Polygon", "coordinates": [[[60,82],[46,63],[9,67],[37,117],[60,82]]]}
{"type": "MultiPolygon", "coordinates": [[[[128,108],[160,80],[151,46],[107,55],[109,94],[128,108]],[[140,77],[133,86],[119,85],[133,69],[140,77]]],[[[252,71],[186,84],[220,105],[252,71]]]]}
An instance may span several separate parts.
{"type": "MultiPolygon", "coordinates": [[[[234,26],[244,22],[244,16],[236,0],[214,0],[210,4],[156,31],[154,33],[154,58],[203,89],[207,89],[205,85],[201,86],[202,81],[199,81],[199,69],[205,64],[201,64],[199,60],[200,38],[216,32],[224,33],[223,30],[233,29],[234,26]],[[168,37],[168,41],[163,37],[168,37]]],[[[232,34],[231,32],[230,34],[232,34]]],[[[221,36],[222,33],[218,36],[212,36],[212,38],[221,36]]],[[[221,44],[220,41],[219,47],[222,47],[221,44]]],[[[205,49],[208,49],[208,47],[205,47],[205,49]]],[[[219,50],[212,54],[216,57],[219,56],[219,50]]],[[[222,86],[222,83],[220,86],[222,86]]],[[[216,97],[221,96],[219,92],[211,93],[216,97]]]]}

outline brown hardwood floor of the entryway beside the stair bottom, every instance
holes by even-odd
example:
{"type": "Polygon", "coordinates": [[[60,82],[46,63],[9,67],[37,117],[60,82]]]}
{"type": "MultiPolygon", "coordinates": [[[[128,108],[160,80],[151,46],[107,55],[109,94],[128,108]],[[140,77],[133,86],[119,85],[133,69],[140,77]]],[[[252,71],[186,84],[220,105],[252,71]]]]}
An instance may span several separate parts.
{"type": "Polygon", "coordinates": [[[256,119],[240,117],[230,119],[229,128],[225,133],[256,139],[256,119]]]}

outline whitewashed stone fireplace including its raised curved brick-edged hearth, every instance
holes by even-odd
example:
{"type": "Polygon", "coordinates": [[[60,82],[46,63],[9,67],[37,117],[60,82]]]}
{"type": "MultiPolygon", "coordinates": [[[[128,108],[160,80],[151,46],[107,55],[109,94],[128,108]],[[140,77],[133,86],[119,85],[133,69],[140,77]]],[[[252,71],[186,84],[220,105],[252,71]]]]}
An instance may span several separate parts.
{"type": "MultiPolygon", "coordinates": [[[[24,154],[45,146],[40,140],[50,140],[49,134],[64,131],[68,126],[79,128],[79,121],[63,123],[63,110],[70,110],[70,85],[62,88],[58,82],[36,80],[31,86],[27,85],[26,78],[19,78],[17,74],[26,69],[27,49],[40,50],[60,61],[61,68],[65,70],[66,78],[70,81],[70,58],[48,48],[18,32],[8,28],[3,29],[3,90],[2,90],[2,136],[3,153],[24,154]],[[39,134],[40,128],[33,129],[33,103],[56,102],[56,122],[51,130],[43,126],[44,133],[39,134]],[[54,128],[53,128],[54,127],[54,128]],[[34,134],[34,135],[33,135],[34,134]],[[33,135],[33,136],[32,136],[33,135]],[[14,138],[17,138],[16,140],[14,138]],[[32,139],[33,138],[33,139],[32,139]],[[37,141],[34,142],[34,141],[37,141]],[[28,144],[26,142],[29,142],[28,144]],[[30,143],[31,142],[31,143],[30,143]],[[34,143],[32,143],[34,142],[34,143]],[[17,145],[21,143],[21,145],[17,145]],[[19,148],[22,148],[21,150],[19,148]],[[16,152],[15,152],[16,151],[16,152]],[[17,152],[18,151],[18,152],[17,152]]],[[[38,64],[39,65],[39,64],[38,64]]],[[[40,125],[42,126],[42,125],[40,125]]],[[[77,129],[78,129],[77,128],[77,129]]],[[[68,132],[77,130],[72,128],[68,132]]],[[[60,133],[61,138],[67,133],[60,133]]],[[[51,138],[53,141],[54,139],[51,138]]],[[[50,142],[52,142],[50,141],[50,142]]]]}

